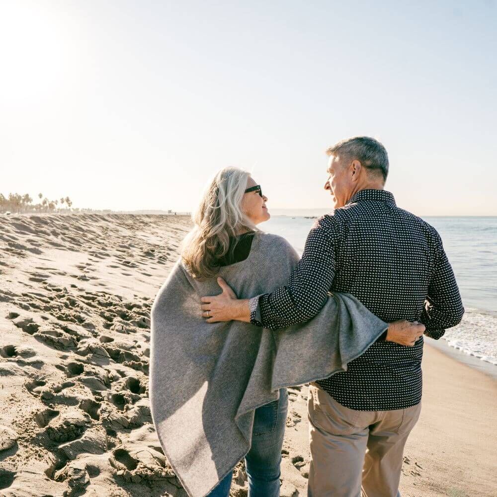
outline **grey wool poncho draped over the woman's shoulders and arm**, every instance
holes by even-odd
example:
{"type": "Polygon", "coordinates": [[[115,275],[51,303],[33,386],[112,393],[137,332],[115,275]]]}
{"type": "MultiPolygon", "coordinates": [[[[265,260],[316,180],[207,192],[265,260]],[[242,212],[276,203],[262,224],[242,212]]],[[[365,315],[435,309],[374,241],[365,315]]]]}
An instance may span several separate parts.
{"type": "MultiPolygon", "coordinates": [[[[281,237],[255,234],[248,258],[220,268],[239,298],[285,285],[299,256],[281,237]]],[[[334,293],[303,325],[278,331],[248,323],[206,323],[199,281],[178,260],[152,307],[150,401],[172,469],[191,497],[204,497],[250,449],[254,410],[280,387],[345,371],[388,328],[355,297],[334,293]]]]}

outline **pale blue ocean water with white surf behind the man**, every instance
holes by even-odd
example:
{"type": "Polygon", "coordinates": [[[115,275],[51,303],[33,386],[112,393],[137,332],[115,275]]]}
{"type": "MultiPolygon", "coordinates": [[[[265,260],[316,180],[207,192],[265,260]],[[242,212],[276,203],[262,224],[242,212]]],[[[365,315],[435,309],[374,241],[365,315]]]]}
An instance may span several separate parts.
{"type": "MultiPolygon", "coordinates": [[[[423,218],[442,237],[466,310],[442,339],[497,366],[497,217],[423,218]]],[[[273,216],[261,230],[285,237],[302,252],[314,219],[273,216]]]]}

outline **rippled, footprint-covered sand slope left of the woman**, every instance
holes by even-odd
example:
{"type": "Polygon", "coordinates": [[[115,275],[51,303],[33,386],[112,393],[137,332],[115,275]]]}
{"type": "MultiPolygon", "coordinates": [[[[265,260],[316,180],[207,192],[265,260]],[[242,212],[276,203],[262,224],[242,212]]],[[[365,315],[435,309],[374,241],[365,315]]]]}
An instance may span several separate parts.
{"type": "Polygon", "coordinates": [[[0,217],[1,495],[179,495],[151,424],[149,315],[188,229],[0,217]]]}

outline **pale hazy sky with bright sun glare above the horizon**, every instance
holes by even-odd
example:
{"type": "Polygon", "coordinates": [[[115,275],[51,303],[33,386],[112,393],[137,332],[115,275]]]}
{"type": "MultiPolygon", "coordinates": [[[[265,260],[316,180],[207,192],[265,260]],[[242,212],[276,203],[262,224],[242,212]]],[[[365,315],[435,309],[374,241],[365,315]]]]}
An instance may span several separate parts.
{"type": "Polygon", "coordinates": [[[495,1],[0,0],[0,192],[192,210],[224,166],[331,206],[373,136],[417,215],[497,215],[495,1]]]}

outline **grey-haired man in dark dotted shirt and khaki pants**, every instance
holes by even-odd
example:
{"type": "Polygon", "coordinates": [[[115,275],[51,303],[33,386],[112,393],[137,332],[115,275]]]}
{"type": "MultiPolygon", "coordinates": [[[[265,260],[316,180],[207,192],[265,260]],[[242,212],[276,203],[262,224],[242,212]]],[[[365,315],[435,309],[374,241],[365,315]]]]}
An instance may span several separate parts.
{"type": "MultiPolygon", "coordinates": [[[[327,154],[334,212],[314,225],[288,284],[237,300],[221,280],[223,293],[202,299],[204,317],[275,330],[311,320],[337,291],[386,322],[420,321],[440,338],[464,308],[439,234],[383,189],[381,143],[355,137],[327,154]]],[[[367,497],[400,496],[403,450],[421,408],[423,337],[411,345],[384,336],[347,371],[311,384],[309,496],[357,497],[361,486],[367,497]]]]}

